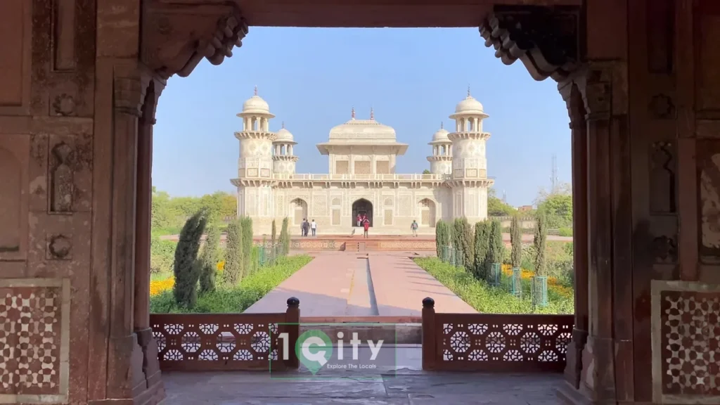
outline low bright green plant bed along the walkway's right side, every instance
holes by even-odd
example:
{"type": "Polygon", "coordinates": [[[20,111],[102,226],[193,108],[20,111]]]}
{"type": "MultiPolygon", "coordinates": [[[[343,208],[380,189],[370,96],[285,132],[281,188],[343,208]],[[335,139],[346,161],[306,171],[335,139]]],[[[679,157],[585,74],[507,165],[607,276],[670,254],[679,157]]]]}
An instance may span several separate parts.
{"type": "MultiPolygon", "coordinates": [[[[459,298],[482,313],[574,313],[573,298],[548,292],[549,305],[533,308],[529,297],[516,298],[501,288],[477,280],[463,267],[455,267],[435,257],[418,257],[415,263],[445,285],[459,298]]],[[[524,282],[529,282],[525,280],[524,282]]],[[[527,288],[523,285],[523,290],[527,288]]]]}

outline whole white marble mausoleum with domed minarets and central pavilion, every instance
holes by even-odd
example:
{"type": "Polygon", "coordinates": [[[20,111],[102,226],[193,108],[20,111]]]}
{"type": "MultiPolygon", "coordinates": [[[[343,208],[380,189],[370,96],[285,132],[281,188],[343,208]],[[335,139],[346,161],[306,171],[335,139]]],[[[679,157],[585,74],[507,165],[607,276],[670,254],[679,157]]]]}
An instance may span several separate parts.
{"type": "Polygon", "coordinates": [[[318,143],[320,154],[328,156],[327,174],[295,173],[297,143],[284,125],[270,130],[275,116],[257,89],[238,117],[238,178],[231,182],[238,187],[238,216],[253,218],[256,234],[269,234],[273,219],[279,232],[286,216],[293,234],[300,234],[300,221],[308,218],[318,223],[319,235],[351,233],[358,213],[369,218],[371,235],[408,234],[413,220],[418,233],[434,233],[439,219],[487,218],[487,188],[494,182],[485,158],[490,133],[482,131],[488,115],[469,91],[450,115],[454,132],[441,125],[428,143],[430,174],[395,172],[408,144],[398,143],[395,130],[377,122],[372,110],[369,120],[359,120],[353,109],[348,122],[318,143]]]}

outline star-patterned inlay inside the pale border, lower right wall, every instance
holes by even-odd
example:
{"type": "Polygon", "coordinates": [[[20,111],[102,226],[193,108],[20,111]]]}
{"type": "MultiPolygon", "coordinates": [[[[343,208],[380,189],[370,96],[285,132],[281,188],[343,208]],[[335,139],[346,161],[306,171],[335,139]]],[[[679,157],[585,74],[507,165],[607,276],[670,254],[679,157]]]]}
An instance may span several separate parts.
{"type": "Polygon", "coordinates": [[[720,292],[660,293],[662,393],[720,402],[720,292]]]}

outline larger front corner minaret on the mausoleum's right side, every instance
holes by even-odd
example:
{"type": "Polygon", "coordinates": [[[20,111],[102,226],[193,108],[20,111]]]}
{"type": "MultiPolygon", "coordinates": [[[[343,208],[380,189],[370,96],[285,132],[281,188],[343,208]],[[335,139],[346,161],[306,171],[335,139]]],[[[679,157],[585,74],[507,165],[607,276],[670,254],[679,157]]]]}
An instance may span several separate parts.
{"type": "Polygon", "coordinates": [[[452,142],[453,216],[467,216],[471,221],[487,218],[487,188],[495,182],[487,177],[485,142],[490,133],[482,132],[482,120],[489,117],[482,104],[467,89],[467,97],[450,115],[455,132],[448,134],[452,142]]]}

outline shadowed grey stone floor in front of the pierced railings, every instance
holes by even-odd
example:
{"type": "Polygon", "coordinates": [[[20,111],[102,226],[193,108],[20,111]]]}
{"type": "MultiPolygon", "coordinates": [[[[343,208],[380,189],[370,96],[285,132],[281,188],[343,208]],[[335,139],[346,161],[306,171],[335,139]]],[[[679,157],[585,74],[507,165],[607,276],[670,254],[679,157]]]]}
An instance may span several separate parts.
{"type": "Polygon", "coordinates": [[[554,405],[562,383],[562,374],[423,372],[419,346],[400,348],[397,367],[373,374],[327,370],[305,378],[303,371],[282,379],[267,372],[165,373],[163,405],[554,405]]]}

